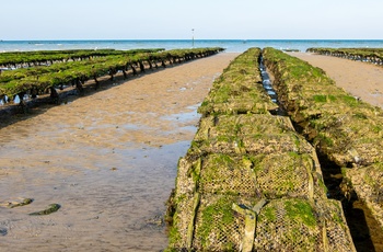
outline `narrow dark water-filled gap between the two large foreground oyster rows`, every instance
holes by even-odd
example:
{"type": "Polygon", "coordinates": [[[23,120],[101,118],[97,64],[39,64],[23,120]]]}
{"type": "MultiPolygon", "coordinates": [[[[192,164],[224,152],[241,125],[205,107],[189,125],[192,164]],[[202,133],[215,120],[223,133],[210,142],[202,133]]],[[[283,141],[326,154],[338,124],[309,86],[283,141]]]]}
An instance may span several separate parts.
{"type": "MultiPolygon", "coordinates": [[[[270,95],[271,101],[279,105],[278,110],[271,111],[270,113],[272,115],[288,116],[288,112],[285,110],[283,104],[278,100],[278,93],[272,88],[272,81],[267,72],[266,66],[264,65],[263,57],[259,58],[259,70],[264,89],[268,95],[270,95]]],[[[294,124],[293,121],[292,124],[297,133],[303,135],[303,128],[300,125],[294,124]]],[[[327,156],[324,153],[318,152],[318,150],[316,151],[321,163],[323,180],[327,187],[327,197],[341,202],[347,225],[350,229],[357,251],[383,251],[383,233],[371,211],[367,208],[365,204],[357,197],[356,193],[352,193],[350,199],[345,197],[341,190],[344,185],[341,168],[328,160],[327,156]]]]}

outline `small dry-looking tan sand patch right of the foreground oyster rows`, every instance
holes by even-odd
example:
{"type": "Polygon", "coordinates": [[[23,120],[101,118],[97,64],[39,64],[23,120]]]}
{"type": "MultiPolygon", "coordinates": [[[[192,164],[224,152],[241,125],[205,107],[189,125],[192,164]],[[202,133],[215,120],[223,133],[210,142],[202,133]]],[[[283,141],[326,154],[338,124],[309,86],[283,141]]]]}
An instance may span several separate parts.
{"type": "Polygon", "coordinates": [[[290,55],[322,68],[348,93],[383,108],[382,66],[309,53],[290,53],[290,55]]]}

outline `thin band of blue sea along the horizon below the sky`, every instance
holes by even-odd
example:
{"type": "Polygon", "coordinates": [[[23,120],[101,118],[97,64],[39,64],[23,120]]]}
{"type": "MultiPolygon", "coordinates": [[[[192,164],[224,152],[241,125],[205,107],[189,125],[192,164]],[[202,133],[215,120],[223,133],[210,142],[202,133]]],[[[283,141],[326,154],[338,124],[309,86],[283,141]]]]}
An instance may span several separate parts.
{"type": "Polygon", "coordinates": [[[0,53],[59,49],[138,49],[223,47],[243,53],[251,47],[305,51],[310,47],[383,48],[383,39],[103,39],[103,41],[0,41],[0,53]]]}

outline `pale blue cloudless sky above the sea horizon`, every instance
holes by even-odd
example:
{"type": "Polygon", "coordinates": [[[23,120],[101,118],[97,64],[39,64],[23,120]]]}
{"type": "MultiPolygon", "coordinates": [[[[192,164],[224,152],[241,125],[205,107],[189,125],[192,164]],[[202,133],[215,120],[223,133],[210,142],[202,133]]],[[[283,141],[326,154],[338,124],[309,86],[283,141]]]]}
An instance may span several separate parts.
{"type": "Polygon", "coordinates": [[[2,0],[0,39],[383,39],[382,10],[382,0],[2,0]]]}

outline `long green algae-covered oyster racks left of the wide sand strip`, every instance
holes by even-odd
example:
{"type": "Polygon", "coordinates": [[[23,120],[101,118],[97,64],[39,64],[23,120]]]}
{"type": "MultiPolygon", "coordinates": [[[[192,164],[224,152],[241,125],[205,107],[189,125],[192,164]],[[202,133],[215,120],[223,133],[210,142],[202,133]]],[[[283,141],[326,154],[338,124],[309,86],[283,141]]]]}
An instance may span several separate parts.
{"type": "Polygon", "coordinates": [[[192,49],[135,49],[135,50],[58,50],[24,51],[0,54],[0,102],[9,102],[18,95],[24,105],[25,95],[36,99],[47,90],[55,102],[58,100],[56,89],[73,85],[83,94],[83,84],[94,80],[100,88],[98,79],[111,76],[111,80],[121,71],[138,75],[146,69],[166,67],[166,64],[184,62],[208,57],[222,51],[223,48],[192,49]],[[40,66],[44,64],[44,66],[40,66]],[[1,68],[14,67],[14,70],[1,71],[1,68]],[[138,70],[140,69],[140,70],[138,70]]]}

